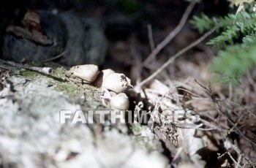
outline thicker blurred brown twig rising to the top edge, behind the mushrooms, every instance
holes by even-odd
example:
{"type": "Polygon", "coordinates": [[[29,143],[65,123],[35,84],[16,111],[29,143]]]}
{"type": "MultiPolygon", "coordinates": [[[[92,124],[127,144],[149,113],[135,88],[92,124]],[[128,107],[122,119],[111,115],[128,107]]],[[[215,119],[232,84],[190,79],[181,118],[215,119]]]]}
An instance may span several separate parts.
{"type": "Polygon", "coordinates": [[[162,50],[163,47],[165,47],[176,35],[178,34],[179,31],[181,31],[181,28],[184,27],[185,23],[187,22],[187,18],[189,17],[190,12],[192,11],[193,7],[195,7],[196,1],[192,1],[189,6],[187,7],[186,11],[184,12],[180,23],[178,23],[178,26],[170,32],[170,34],[165,37],[165,39],[160,42],[159,45],[152,51],[152,53],[146,58],[145,61],[143,61],[143,66],[148,64],[151,60],[154,59],[155,56],[162,50]]]}

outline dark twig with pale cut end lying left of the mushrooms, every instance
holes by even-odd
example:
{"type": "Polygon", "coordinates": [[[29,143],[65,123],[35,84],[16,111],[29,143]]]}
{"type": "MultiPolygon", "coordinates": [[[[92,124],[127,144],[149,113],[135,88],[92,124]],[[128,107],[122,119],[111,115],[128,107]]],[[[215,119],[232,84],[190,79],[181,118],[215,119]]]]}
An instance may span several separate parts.
{"type": "Polygon", "coordinates": [[[41,72],[41,73],[44,73],[44,74],[47,74],[47,75],[49,75],[51,72],[53,72],[53,69],[50,68],[50,67],[27,66],[27,65],[18,64],[18,63],[12,62],[12,61],[5,61],[5,60],[2,60],[2,59],[0,59],[0,62],[2,62],[4,64],[7,64],[7,65],[10,65],[10,66],[15,66],[15,67],[18,67],[18,68],[29,69],[29,70],[32,70],[32,71],[35,71],[35,72],[41,72]]]}

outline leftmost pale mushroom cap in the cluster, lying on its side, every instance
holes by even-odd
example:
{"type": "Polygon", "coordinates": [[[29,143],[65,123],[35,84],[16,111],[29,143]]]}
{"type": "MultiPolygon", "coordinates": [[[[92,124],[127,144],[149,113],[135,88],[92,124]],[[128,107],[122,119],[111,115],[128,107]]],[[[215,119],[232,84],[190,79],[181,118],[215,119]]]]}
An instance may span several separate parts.
{"type": "Polygon", "coordinates": [[[94,64],[86,64],[80,66],[72,66],[69,71],[72,72],[72,74],[76,77],[85,80],[87,83],[92,83],[97,78],[99,68],[94,64]]]}

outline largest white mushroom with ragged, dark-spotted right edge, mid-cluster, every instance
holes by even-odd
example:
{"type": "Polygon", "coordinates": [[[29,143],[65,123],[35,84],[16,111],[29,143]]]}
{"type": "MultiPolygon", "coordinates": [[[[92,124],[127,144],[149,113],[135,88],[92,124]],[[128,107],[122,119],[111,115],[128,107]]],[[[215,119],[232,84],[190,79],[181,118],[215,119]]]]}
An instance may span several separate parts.
{"type": "Polygon", "coordinates": [[[104,77],[102,88],[106,88],[116,93],[121,93],[132,88],[131,80],[124,74],[112,73],[104,77]]]}

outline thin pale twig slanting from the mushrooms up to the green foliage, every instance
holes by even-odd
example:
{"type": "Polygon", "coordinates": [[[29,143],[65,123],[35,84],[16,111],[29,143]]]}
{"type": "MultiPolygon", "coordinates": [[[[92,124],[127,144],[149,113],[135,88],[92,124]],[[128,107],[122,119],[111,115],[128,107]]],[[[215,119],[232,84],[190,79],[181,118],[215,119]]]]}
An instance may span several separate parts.
{"type": "Polygon", "coordinates": [[[178,51],[178,53],[176,53],[174,56],[169,58],[168,61],[165,64],[163,64],[159,69],[157,69],[157,71],[154,72],[152,75],[150,75],[145,80],[143,80],[139,85],[142,86],[142,85],[145,85],[146,83],[148,83],[150,80],[152,80],[154,77],[156,77],[160,72],[162,72],[162,70],[165,69],[176,58],[181,56],[181,54],[187,52],[187,50],[189,50],[192,47],[195,47],[196,45],[198,45],[200,42],[202,42],[204,39],[206,39],[206,37],[208,37],[210,34],[212,34],[212,32],[214,32],[214,30],[208,31],[206,34],[203,34],[203,36],[200,37],[199,39],[197,39],[195,42],[193,42],[192,44],[188,45],[187,47],[184,47],[184,49],[178,51]]]}

